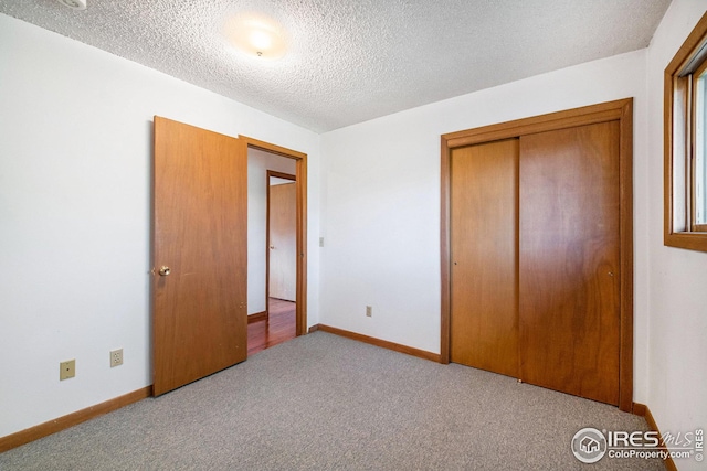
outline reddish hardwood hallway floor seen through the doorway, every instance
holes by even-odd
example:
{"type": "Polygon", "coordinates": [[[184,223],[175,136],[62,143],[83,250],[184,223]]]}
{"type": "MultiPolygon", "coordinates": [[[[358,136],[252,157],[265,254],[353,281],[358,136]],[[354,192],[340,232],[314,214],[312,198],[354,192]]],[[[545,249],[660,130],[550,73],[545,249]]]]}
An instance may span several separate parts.
{"type": "Polygon", "coordinates": [[[270,319],[247,324],[247,355],[254,355],[296,336],[295,303],[270,298],[270,319]]]}

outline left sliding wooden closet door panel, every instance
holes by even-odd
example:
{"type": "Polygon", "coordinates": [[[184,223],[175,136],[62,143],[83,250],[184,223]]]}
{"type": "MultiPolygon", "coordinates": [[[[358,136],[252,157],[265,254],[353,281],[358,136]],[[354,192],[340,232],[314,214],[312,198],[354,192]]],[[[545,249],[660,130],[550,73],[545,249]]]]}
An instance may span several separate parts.
{"type": "Polygon", "coordinates": [[[518,140],[451,156],[451,339],[455,363],[518,375],[518,140]]]}

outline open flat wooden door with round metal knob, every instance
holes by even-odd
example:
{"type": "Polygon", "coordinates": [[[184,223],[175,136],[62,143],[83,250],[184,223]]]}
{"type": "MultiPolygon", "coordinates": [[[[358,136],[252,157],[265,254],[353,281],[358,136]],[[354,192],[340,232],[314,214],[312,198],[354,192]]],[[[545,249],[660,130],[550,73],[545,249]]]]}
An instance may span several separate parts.
{"type": "Polygon", "coordinates": [[[155,117],[155,395],[246,357],[246,184],[244,141],[155,117]]]}

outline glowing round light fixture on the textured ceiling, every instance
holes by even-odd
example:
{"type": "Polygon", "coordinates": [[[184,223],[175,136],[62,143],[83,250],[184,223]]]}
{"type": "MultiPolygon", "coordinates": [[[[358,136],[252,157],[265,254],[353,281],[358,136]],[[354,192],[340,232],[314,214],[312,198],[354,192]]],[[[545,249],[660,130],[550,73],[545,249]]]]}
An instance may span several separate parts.
{"type": "Polygon", "coordinates": [[[262,15],[233,18],[226,22],[224,33],[234,47],[251,56],[276,60],[287,52],[284,29],[262,15]]]}

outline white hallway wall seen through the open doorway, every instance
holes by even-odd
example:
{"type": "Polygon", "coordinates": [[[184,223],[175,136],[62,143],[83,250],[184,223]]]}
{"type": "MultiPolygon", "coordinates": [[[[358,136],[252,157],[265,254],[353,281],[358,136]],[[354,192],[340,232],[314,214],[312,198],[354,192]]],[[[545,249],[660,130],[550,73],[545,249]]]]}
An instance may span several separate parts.
{"type": "Polygon", "coordinates": [[[296,161],[257,149],[247,151],[247,313],[265,310],[267,171],[296,172],[296,161]]]}

